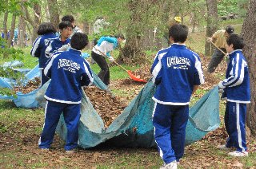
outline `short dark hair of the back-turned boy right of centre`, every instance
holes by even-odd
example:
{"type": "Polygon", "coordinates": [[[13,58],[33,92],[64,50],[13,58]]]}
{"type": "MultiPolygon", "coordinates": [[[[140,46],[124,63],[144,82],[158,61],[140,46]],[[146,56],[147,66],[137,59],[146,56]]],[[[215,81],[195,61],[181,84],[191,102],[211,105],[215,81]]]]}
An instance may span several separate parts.
{"type": "Polygon", "coordinates": [[[174,42],[183,43],[184,41],[186,41],[188,33],[188,27],[182,24],[174,24],[173,26],[170,26],[169,29],[169,37],[173,37],[174,42]]]}

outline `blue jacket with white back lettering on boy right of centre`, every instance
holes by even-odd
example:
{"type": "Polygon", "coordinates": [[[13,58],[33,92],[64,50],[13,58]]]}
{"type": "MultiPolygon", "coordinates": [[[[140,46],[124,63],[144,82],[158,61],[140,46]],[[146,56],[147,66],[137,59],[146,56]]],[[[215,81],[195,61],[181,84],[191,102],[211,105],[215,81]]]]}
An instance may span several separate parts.
{"type": "Polygon", "coordinates": [[[158,85],[153,100],[159,104],[189,104],[194,85],[204,83],[198,54],[176,43],[158,51],[151,73],[158,85]]]}

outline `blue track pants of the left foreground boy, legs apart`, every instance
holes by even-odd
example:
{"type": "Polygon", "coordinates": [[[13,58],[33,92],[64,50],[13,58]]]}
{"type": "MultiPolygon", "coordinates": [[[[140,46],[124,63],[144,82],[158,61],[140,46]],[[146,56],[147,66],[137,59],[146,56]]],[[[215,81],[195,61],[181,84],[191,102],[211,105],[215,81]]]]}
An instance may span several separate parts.
{"type": "Polygon", "coordinates": [[[78,147],[78,122],[80,120],[80,104],[62,104],[48,100],[46,102],[46,119],[42,135],[38,141],[40,148],[49,148],[54,140],[58,120],[63,112],[67,128],[65,150],[78,147]]]}

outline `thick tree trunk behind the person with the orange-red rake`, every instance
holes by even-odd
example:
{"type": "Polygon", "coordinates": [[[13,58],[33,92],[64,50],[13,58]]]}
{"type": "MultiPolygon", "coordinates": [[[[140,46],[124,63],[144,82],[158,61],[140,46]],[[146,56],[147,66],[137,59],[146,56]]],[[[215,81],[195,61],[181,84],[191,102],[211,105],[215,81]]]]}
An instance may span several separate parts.
{"type": "MultiPolygon", "coordinates": [[[[121,49],[117,59],[120,64],[139,64],[145,61],[145,53],[142,52],[142,36],[148,31],[149,18],[154,16],[150,10],[156,4],[158,1],[154,0],[128,2],[131,15],[126,27],[126,45],[121,49]]],[[[152,32],[153,30],[154,27],[152,32]]]]}

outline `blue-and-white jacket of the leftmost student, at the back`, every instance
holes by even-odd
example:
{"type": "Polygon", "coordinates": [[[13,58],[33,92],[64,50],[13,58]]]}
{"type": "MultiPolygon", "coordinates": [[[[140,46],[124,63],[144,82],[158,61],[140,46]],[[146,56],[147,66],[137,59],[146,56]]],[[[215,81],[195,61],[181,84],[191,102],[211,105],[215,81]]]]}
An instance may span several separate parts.
{"type": "Polygon", "coordinates": [[[47,33],[39,36],[34,41],[32,49],[30,50],[30,55],[33,57],[38,57],[39,68],[45,68],[46,61],[48,61],[49,59],[48,57],[46,57],[46,48],[50,44],[50,39],[54,38],[56,38],[54,33],[47,33]]]}

